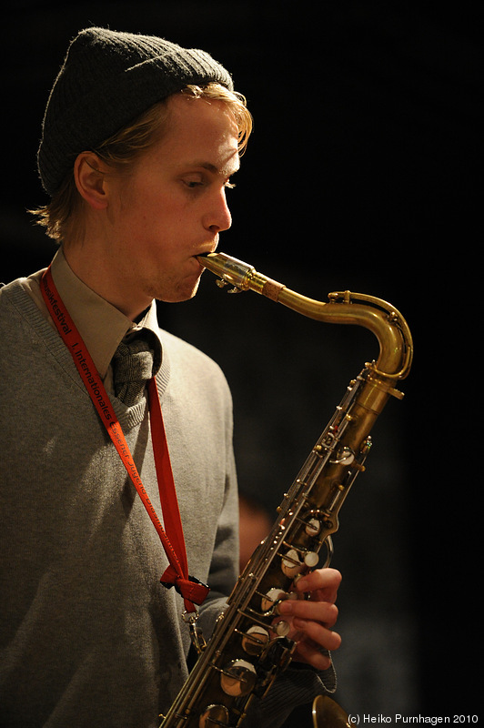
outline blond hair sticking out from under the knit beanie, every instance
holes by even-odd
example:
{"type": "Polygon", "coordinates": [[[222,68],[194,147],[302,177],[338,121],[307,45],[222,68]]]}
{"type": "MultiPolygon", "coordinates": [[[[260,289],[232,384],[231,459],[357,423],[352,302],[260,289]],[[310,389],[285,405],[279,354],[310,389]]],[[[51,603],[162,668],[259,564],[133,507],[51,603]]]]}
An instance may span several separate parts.
{"type": "MultiPolygon", "coordinates": [[[[180,92],[183,96],[222,101],[234,114],[238,127],[238,153],[244,154],[248,137],[252,132],[252,116],[247,109],[245,96],[228,90],[217,83],[207,86],[186,86],[180,92]]],[[[137,157],[152,147],[166,131],[168,100],[170,96],[150,106],[129,126],[125,126],[99,144],[92,151],[107,166],[118,173],[129,173],[129,168],[137,157]]],[[[84,151],[84,150],[83,150],[84,151]]],[[[37,224],[45,227],[49,238],[59,244],[68,237],[74,237],[74,227],[82,225],[83,199],[79,195],[73,170],[66,176],[59,190],[44,207],[30,212],[37,217],[37,224]]]]}

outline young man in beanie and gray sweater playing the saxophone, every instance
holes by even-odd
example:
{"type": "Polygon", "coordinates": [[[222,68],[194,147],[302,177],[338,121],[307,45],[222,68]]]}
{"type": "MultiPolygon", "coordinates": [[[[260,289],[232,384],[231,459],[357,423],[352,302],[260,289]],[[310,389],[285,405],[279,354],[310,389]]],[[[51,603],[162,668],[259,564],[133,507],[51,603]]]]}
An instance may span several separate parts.
{"type": "MultiPolygon", "coordinates": [[[[5,728],[155,728],[187,680],[184,613],[208,637],[237,580],[227,382],[156,300],[195,296],[250,130],[202,51],[95,27],[69,46],[38,153],[59,248],[0,291],[5,728]]],[[[339,581],[311,571],[278,606],[303,668],[247,725],[334,691],[339,581]]]]}

